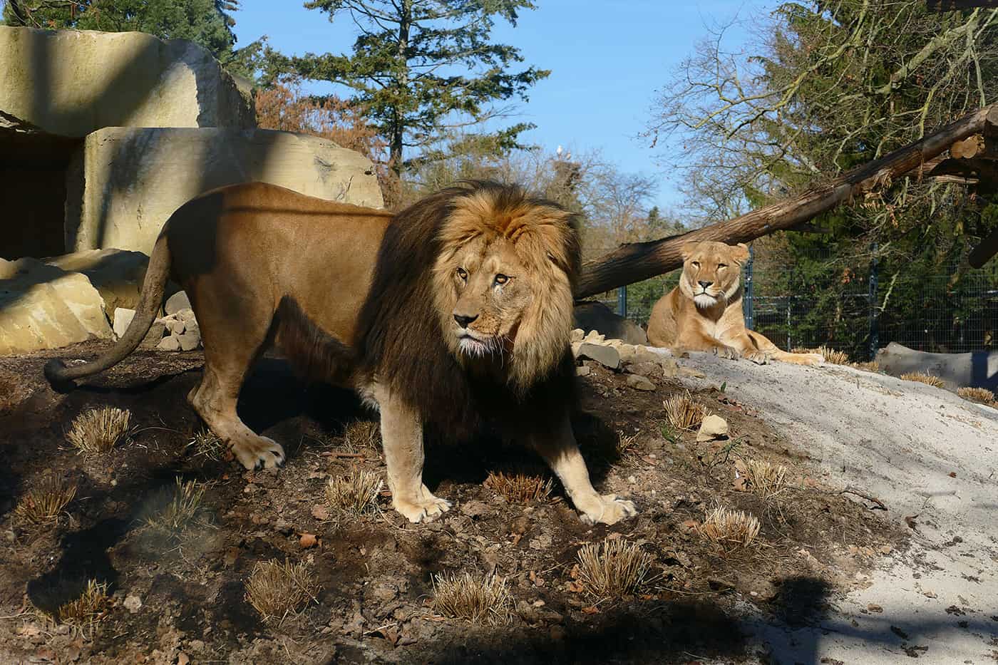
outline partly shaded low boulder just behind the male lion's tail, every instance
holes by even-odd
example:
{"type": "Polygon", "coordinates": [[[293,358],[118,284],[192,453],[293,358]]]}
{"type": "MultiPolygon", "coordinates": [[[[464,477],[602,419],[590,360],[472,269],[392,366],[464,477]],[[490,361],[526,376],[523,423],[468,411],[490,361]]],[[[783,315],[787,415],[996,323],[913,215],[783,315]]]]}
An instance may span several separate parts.
{"type": "Polygon", "coordinates": [[[85,250],[47,259],[50,266],[83,273],[104,299],[109,313],[118,308],[134,310],[139,304],[149,257],[126,250],[85,250]]]}

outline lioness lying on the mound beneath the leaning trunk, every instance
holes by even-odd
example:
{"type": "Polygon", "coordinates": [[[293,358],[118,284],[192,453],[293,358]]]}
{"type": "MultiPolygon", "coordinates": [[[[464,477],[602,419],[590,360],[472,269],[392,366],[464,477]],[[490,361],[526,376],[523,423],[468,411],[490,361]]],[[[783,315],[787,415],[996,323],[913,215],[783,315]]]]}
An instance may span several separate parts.
{"type": "Polygon", "coordinates": [[[678,352],[710,350],[759,364],[770,359],[821,364],[820,353],[788,353],[764,335],[746,328],[742,312],[742,265],[749,248],[713,241],[691,241],[682,247],[680,284],[652,309],[648,341],[678,352]]]}

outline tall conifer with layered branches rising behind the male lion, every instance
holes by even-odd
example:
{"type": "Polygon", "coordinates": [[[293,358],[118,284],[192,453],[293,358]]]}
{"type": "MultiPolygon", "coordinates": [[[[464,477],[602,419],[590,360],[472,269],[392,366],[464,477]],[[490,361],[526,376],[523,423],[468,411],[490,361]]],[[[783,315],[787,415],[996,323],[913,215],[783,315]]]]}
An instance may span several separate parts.
{"type": "MultiPolygon", "coordinates": [[[[388,144],[389,164],[397,175],[405,151],[429,146],[441,131],[480,125],[508,115],[494,104],[527,90],[550,72],[529,67],[519,49],[490,41],[498,17],[516,25],[530,0],[312,0],[309,9],[329,20],[349,18],[360,34],[352,53],[282,58],[272,73],[293,71],[305,79],[343,84],[351,100],[388,144]]],[[[533,125],[516,124],[494,132],[501,147],[517,145],[517,136],[533,125]]]]}

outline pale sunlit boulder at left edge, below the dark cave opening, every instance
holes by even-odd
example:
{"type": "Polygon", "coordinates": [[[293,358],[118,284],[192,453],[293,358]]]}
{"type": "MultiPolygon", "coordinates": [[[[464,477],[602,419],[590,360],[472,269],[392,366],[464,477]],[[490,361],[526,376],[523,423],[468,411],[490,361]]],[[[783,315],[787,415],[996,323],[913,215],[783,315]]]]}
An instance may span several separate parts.
{"type": "Polygon", "coordinates": [[[85,275],[35,259],[0,259],[0,355],[110,338],[104,301],[85,275]]]}

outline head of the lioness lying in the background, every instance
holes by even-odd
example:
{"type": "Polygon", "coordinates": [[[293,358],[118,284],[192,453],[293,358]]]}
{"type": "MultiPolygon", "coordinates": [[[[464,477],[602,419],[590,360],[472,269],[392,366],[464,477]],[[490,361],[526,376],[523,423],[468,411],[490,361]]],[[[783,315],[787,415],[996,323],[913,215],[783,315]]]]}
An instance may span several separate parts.
{"type": "Polygon", "coordinates": [[[735,297],[741,282],[742,265],[749,259],[748,247],[704,241],[687,243],[682,251],[680,290],[698,308],[727,304],[735,297]]]}

